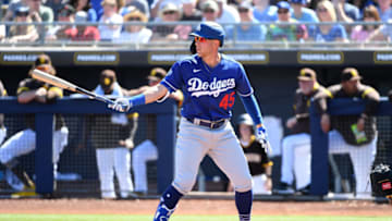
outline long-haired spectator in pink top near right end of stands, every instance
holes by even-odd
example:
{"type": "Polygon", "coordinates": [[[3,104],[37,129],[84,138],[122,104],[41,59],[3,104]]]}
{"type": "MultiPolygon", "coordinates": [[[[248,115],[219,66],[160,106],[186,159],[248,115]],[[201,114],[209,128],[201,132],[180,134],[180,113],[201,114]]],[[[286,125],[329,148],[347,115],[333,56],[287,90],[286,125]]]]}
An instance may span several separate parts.
{"type": "MultiPolygon", "coordinates": [[[[363,22],[380,22],[380,15],[375,5],[368,5],[364,9],[363,22]]],[[[353,28],[351,39],[354,41],[365,41],[379,25],[357,25],[353,28]]]]}

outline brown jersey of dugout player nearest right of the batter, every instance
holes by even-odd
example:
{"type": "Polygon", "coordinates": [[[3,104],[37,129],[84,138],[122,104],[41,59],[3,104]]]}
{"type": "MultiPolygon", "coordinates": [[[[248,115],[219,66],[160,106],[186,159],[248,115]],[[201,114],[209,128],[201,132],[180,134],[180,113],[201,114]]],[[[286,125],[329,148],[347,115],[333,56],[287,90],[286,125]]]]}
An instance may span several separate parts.
{"type": "Polygon", "coordinates": [[[301,89],[295,91],[293,108],[297,123],[292,128],[292,134],[310,134],[309,108],[311,99],[314,99],[316,103],[318,113],[322,114],[327,112],[327,97],[330,97],[330,93],[318,83],[315,84],[314,90],[310,95],[303,94],[301,89]]]}

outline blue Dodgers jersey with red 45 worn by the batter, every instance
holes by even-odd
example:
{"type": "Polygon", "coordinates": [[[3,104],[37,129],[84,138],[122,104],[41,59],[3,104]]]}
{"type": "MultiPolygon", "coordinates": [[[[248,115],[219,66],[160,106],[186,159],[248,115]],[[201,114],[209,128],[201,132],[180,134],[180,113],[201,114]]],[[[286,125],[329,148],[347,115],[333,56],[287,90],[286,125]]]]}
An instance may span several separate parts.
{"type": "Polygon", "coordinates": [[[233,59],[221,54],[220,63],[209,67],[200,57],[193,56],[173,64],[161,85],[170,93],[181,89],[184,118],[209,121],[229,119],[235,94],[250,96],[253,88],[244,67],[233,59]]]}

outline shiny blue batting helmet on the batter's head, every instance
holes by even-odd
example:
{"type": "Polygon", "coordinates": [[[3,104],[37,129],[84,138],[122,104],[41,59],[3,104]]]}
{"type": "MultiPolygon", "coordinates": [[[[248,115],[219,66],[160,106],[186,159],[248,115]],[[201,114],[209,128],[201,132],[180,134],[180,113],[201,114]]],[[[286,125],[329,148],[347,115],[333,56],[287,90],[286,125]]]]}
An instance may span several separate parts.
{"type": "Polygon", "coordinates": [[[216,22],[203,22],[195,32],[189,34],[191,36],[204,37],[207,39],[218,39],[219,46],[223,46],[224,41],[224,29],[216,22]]]}

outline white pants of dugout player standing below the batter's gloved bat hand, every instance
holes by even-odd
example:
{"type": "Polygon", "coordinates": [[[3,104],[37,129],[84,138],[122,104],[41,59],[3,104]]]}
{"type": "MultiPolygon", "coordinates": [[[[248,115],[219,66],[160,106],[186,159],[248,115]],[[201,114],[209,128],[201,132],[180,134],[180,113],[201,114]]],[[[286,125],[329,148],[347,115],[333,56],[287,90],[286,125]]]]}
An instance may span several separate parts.
{"type": "Polygon", "coordinates": [[[127,148],[99,148],[96,150],[102,198],[115,198],[114,172],[122,198],[133,192],[131,180],[131,154],[127,148]]]}

